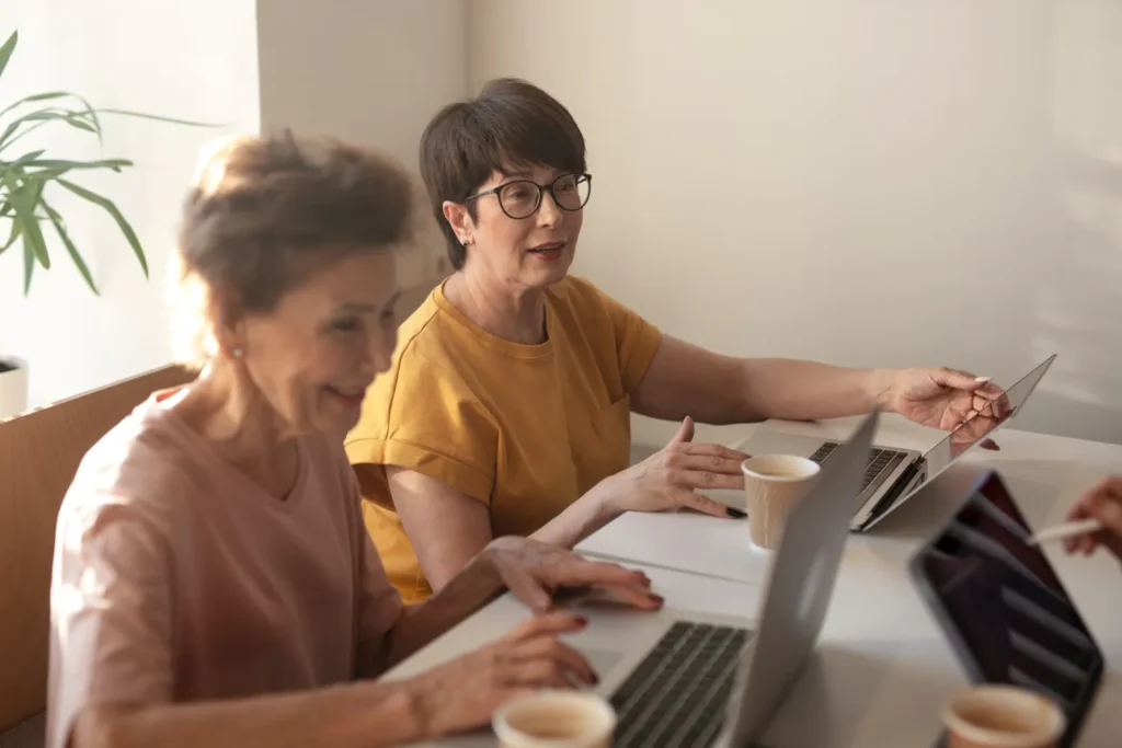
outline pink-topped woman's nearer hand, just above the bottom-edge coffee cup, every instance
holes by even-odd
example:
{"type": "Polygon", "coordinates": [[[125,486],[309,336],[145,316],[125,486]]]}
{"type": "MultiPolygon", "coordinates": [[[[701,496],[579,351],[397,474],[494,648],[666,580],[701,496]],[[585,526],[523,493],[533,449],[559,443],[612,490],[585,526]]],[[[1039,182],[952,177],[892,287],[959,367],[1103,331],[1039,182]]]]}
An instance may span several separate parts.
{"type": "Polygon", "coordinates": [[[438,737],[486,724],[504,701],[525,692],[596,683],[585,656],[558,638],[586,624],[567,612],[532,618],[498,641],[410,681],[425,732],[438,737]]]}

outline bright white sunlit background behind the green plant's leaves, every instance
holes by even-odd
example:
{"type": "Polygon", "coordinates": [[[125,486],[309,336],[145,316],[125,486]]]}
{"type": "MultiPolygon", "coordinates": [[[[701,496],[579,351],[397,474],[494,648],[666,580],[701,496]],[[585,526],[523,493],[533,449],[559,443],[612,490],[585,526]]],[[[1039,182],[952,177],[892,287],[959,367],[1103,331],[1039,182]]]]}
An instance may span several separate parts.
{"type": "MultiPolygon", "coordinates": [[[[43,405],[171,360],[166,260],[199,147],[222,131],[256,131],[257,49],[251,0],[34,0],[6,3],[0,35],[20,44],[0,101],[71,90],[95,107],[221,122],[200,130],[104,118],[107,157],[134,159],[121,175],[75,179],[114,200],[147,250],[145,280],[116,224],[67,195],[56,207],[101,288],[95,298],[55,244],[57,265],[22,295],[22,253],[0,256],[0,351],[30,361],[31,405],[43,405]]],[[[37,147],[94,157],[96,141],[47,128],[37,147]]],[[[21,142],[33,142],[27,138],[21,142]]],[[[48,232],[49,233],[49,232],[48,232]]]]}

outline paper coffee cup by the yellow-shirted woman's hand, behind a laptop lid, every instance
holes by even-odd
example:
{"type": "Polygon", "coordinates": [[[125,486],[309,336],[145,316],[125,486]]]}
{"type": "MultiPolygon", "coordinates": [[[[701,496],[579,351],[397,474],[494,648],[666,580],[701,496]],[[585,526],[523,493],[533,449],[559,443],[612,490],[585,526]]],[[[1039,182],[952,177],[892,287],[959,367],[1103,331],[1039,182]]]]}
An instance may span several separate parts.
{"type": "Polygon", "coordinates": [[[761,454],[745,460],[741,470],[752,542],[761,548],[776,548],[791,509],[818,480],[820,468],[807,458],[761,454]]]}

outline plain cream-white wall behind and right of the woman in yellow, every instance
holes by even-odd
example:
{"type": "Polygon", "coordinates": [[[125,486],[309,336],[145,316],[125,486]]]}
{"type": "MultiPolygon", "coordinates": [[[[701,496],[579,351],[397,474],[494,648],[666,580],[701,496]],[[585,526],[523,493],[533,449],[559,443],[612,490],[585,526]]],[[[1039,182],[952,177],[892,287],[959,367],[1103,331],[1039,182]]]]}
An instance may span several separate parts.
{"type": "Polygon", "coordinates": [[[1122,3],[473,0],[470,20],[473,89],[526,77],[585,131],[576,270],[666,332],[1005,382],[1058,351],[1018,426],[1122,442],[1122,3]]]}

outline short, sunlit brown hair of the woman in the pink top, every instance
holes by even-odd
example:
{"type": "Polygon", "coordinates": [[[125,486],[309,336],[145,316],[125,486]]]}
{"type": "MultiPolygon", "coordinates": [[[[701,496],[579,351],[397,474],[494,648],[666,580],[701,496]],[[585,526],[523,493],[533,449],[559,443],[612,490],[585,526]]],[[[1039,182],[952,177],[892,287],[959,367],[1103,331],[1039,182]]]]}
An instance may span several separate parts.
{"type": "Polygon", "coordinates": [[[405,172],[361,147],[289,132],[222,142],[201,161],[180,227],[184,358],[211,353],[217,290],[237,314],[270,312],[325,265],[407,241],[411,203],[405,172]]]}

